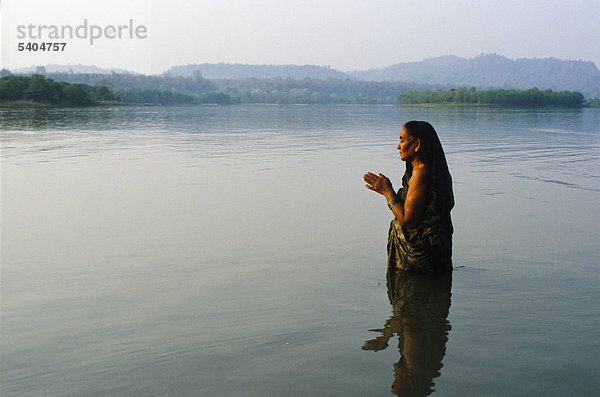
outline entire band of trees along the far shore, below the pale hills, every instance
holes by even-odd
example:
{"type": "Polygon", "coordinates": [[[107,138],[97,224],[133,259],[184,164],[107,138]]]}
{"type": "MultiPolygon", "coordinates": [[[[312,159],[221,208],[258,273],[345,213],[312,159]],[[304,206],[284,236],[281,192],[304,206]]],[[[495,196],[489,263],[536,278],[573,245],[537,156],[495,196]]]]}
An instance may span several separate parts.
{"type": "MultiPolygon", "coordinates": [[[[4,70],[2,72],[5,72],[4,70]]],[[[92,106],[118,104],[401,104],[469,106],[598,107],[579,92],[452,88],[414,83],[291,78],[207,80],[131,74],[42,74],[0,78],[4,106],[92,106]]]]}

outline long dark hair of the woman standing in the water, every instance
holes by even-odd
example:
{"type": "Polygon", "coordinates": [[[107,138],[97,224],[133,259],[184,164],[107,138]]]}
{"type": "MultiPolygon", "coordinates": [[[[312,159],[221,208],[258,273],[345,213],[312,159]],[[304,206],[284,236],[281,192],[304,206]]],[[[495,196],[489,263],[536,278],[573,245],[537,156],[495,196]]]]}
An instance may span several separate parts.
{"type": "MultiPolygon", "coordinates": [[[[431,124],[426,121],[409,121],[404,124],[410,136],[421,141],[419,158],[425,164],[429,176],[429,191],[427,193],[435,208],[441,213],[450,212],[454,207],[452,191],[452,176],[448,170],[446,155],[440,139],[431,124]]],[[[406,162],[406,172],[402,177],[402,185],[407,187],[412,176],[412,164],[406,162]]]]}

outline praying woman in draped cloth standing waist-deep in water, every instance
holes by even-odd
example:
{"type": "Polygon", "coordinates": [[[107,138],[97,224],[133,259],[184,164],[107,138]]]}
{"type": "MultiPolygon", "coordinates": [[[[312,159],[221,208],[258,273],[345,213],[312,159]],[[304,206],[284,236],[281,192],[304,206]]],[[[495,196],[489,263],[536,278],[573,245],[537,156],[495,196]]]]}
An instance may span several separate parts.
{"type": "Polygon", "coordinates": [[[367,172],[366,187],[383,195],[395,219],[388,233],[388,266],[425,273],[452,271],[452,178],[431,124],[409,121],[400,131],[400,158],[406,162],[396,193],[383,174],[367,172]]]}

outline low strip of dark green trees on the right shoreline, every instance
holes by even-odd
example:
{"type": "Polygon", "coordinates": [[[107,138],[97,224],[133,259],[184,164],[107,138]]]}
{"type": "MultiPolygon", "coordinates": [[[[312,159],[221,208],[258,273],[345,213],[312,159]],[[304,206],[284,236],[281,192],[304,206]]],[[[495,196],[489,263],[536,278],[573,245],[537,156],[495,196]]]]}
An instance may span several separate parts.
{"type": "Polygon", "coordinates": [[[584,104],[580,92],[552,90],[485,90],[459,88],[449,91],[411,91],[398,96],[400,104],[471,104],[509,106],[568,106],[584,104]]]}

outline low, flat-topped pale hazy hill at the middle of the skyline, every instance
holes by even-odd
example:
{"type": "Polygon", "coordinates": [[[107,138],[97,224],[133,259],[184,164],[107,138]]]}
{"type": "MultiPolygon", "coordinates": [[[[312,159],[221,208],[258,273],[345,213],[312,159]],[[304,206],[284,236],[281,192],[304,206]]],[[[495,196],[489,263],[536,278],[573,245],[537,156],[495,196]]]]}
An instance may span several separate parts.
{"type": "Polygon", "coordinates": [[[200,72],[205,79],[271,79],[291,78],[302,80],[348,79],[344,72],[331,69],[328,66],[316,65],[247,65],[241,63],[203,63],[183,66],[173,66],[165,75],[190,77],[200,72]]]}

